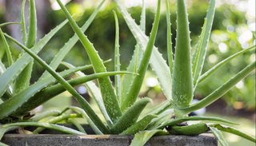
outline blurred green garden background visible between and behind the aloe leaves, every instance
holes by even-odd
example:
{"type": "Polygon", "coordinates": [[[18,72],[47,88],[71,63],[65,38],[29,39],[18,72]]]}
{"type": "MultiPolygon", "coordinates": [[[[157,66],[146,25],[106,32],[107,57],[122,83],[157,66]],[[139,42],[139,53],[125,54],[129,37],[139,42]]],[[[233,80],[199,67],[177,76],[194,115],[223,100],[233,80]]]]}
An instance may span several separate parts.
{"type": "MultiPolygon", "coordinates": [[[[10,1],[11,2],[11,1],[10,1]]],[[[13,1],[14,2],[14,1],[13,1]]],[[[67,7],[70,12],[74,15],[74,18],[80,26],[86,22],[87,18],[94,10],[94,6],[97,6],[98,1],[82,1],[76,0],[67,3],[67,7]]],[[[129,8],[129,12],[136,22],[139,24],[139,17],[141,14],[140,8],[141,2],[130,1],[126,2],[126,6],[129,8]]],[[[152,3],[149,1],[148,3],[152,3]]],[[[198,41],[198,35],[201,33],[202,24],[206,16],[206,9],[208,6],[208,1],[206,0],[193,0],[188,2],[188,11],[190,19],[190,31],[192,39],[192,48],[198,41]]],[[[58,7],[54,6],[53,2],[47,2],[46,7],[41,10],[44,15],[39,15],[38,25],[39,32],[41,36],[50,31],[54,26],[57,26],[60,22],[65,19],[62,11],[58,10],[58,7]],[[40,18],[41,16],[41,18],[40,18]]],[[[39,8],[40,6],[38,6],[39,8]]],[[[42,9],[42,8],[41,8],[42,9]]],[[[164,9],[164,6],[163,6],[164,9]]],[[[95,18],[94,22],[91,24],[88,30],[86,30],[86,35],[89,37],[90,41],[94,43],[96,49],[100,56],[106,60],[114,57],[114,16],[112,10],[116,10],[116,6],[107,2],[106,6],[100,11],[98,16],[95,18]]],[[[234,0],[234,1],[217,1],[217,9],[214,17],[214,25],[212,29],[212,34],[210,36],[210,44],[208,47],[208,53],[206,54],[206,63],[204,65],[203,71],[210,69],[218,61],[222,61],[231,54],[236,53],[242,49],[246,49],[251,45],[255,45],[255,1],[254,0],[234,0]]],[[[116,10],[118,11],[118,10],[116,10]]],[[[0,0],[0,22],[7,22],[10,20],[11,10],[8,9],[8,2],[0,0]]],[[[164,12],[164,10],[163,10],[164,12]]],[[[39,14],[39,13],[38,13],[39,14]]],[[[17,18],[19,15],[17,16],[17,18]]],[[[171,1],[171,22],[172,22],[172,33],[173,33],[173,45],[175,45],[175,35],[176,35],[176,14],[175,14],[175,4],[171,1]]],[[[121,45],[121,63],[122,69],[126,69],[129,64],[130,57],[134,51],[135,40],[130,34],[130,30],[126,26],[122,16],[118,15],[119,27],[120,27],[120,45],[121,45]]],[[[149,34],[151,25],[154,19],[154,5],[148,4],[146,9],[146,34],[149,34]]],[[[9,28],[10,34],[14,31],[9,28]]],[[[74,34],[70,26],[66,25],[62,31],[60,31],[45,49],[42,50],[39,55],[49,62],[54,54],[57,53],[58,49],[64,45],[65,41],[74,34]]],[[[40,36],[39,36],[40,37],[40,36]]],[[[0,40],[1,43],[2,40],[0,40]]],[[[155,44],[163,57],[166,58],[166,16],[162,13],[162,18],[160,26],[158,29],[158,37],[155,44]]],[[[174,47],[173,47],[174,48],[174,47]]],[[[192,50],[192,51],[193,51],[192,50]]],[[[12,53],[16,55],[20,49],[16,48],[15,45],[12,46],[12,53]]],[[[6,56],[4,55],[4,49],[0,45],[0,58],[2,61],[6,61],[6,56]]],[[[66,61],[74,65],[85,65],[90,64],[86,52],[82,48],[80,43],[74,46],[74,49],[65,58],[66,61]]],[[[218,71],[214,73],[212,77],[208,80],[203,81],[198,85],[195,97],[197,99],[202,99],[214,89],[222,85],[235,73],[243,69],[245,65],[255,60],[255,52],[245,53],[234,59],[230,63],[226,64],[218,71]]],[[[34,82],[40,77],[42,73],[42,68],[40,65],[35,63],[34,68],[36,68],[36,74],[33,78],[34,82]]],[[[107,64],[108,70],[114,69],[114,63],[107,64]]],[[[88,73],[92,73],[90,70],[88,73]]],[[[155,81],[154,73],[147,73],[147,78],[145,80],[145,85],[142,88],[142,96],[148,96],[154,98],[154,101],[161,102],[165,100],[162,95],[161,90],[158,87],[157,82],[151,84],[155,81]]],[[[67,99],[67,101],[70,99],[67,99]]],[[[58,101],[58,100],[54,100],[58,101]]],[[[54,102],[48,102],[48,105],[52,105],[54,102]]],[[[242,124],[242,127],[246,127],[251,134],[255,135],[255,73],[251,73],[250,76],[246,77],[243,81],[240,81],[230,92],[226,93],[221,100],[218,100],[214,105],[210,105],[207,108],[207,114],[221,114],[222,116],[230,115],[228,118],[238,121],[242,124]],[[239,118],[238,118],[239,117],[239,118]]],[[[227,140],[230,141],[232,145],[241,145],[238,143],[238,138],[230,138],[227,136],[227,140]]],[[[239,139],[240,140],[240,139],[239,139]]],[[[242,140],[242,142],[246,142],[242,140]]],[[[249,144],[252,143],[249,142],[249,144]]]]}

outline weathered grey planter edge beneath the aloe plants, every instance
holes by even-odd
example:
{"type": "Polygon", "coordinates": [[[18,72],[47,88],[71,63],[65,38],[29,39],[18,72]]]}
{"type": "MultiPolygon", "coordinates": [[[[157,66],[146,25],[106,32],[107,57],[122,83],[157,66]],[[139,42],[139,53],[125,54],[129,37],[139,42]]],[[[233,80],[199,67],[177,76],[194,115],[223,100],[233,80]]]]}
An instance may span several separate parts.
{"type": "MultiPolygon", "coordinates": [[[[6,134],[2,142],[12,146],[21,145],[92,145],[92,146],[128,146],[130,145],[133,136],[119,136],[119,135],[25,135],[25,134],[6,134]]],[[[146,145],[150,146],[217,146],[218,142],[210,133],[204,133],[199,136],[153,136],[146,145]]]]}

